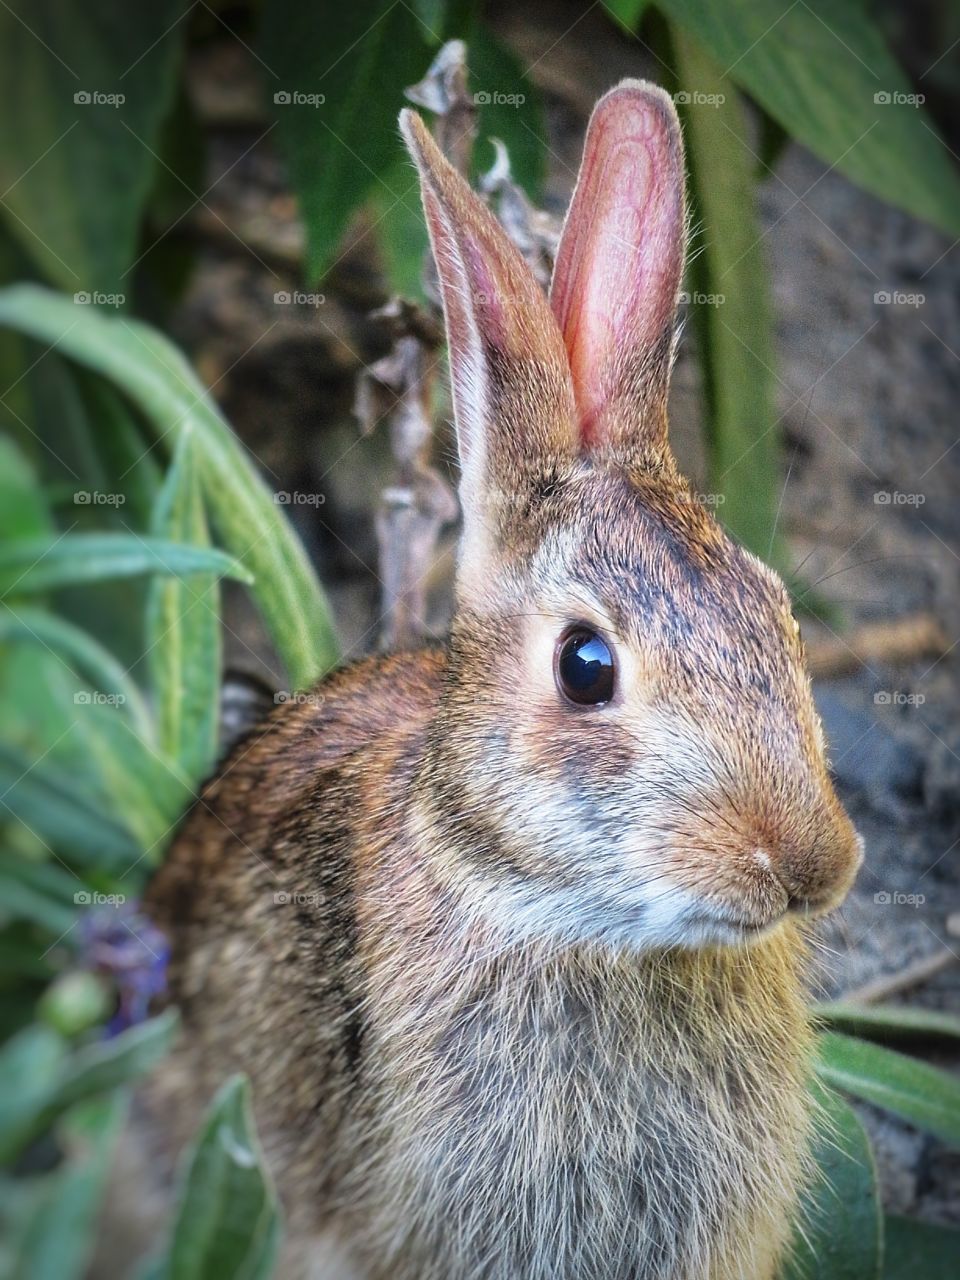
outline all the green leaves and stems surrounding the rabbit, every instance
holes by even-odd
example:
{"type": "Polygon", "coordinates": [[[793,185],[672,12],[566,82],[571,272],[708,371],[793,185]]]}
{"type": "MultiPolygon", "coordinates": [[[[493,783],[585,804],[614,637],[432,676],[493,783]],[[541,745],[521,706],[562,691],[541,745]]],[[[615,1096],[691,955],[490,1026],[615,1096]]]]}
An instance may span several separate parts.
{"type": "MultiPolygon", "coordinates": [[[[731,527],[776,556],[777,378],[753,215],[758,170],[774,161],[765,143],[750,151],[745,97],[760,109],[762,138],[783,131],[951,233],[956,174],[920,111],[873,102],[878,86],[909,84],[859,4],[605,8],[655,45],[664,77],[689,97],[680,105],[703,247],[691,288],[728,300],[695,310],[713,484],[731,527]]],[[[538,95],[477,5],[419,0],[411,17],[389,0],[264,0],[259,10],[259,31],[251,8],[243,35],[262,60],[300,198],[308,279],[335,266],[366,207],[392,282],[419,288],[425,237],[394,120],[444,38],[467,41],[479,91],[527,97],[518,111],[492,95],[480,134],[507,142],[536,195],[538,95]],[[321,92],[329,113],[274,101],[321,92]]],[[[221,579],[251,590],[292,686],[338,657],[282,509],[184,357],[131,319],[137,300],[155,301],[177,275],[170,246],[184,252],[177,229],[202,192],[183,52],[219,22],[186,0],[123,13],[111,0],[82,13],[0,5],[0,283],[64,291],[0,291],[0,1274],[31,1280],[83,1275],[128,1091],[175,1034],[172,1016],[140,1020],[164,952],[132,900],[215,756],[221,579]],[[123,113],[74,101],[81,86],[120,83],[123,113]],[[24,113],[24,101],[38,109],[24,113]],[[91,910],[99,901],[101,913],[91,910]],[[125,969],[113,963],[124,947],[125,969]],[[104,1039],[108,1020],[115,1034],[104,1039]]],[[[828,1028],[817,1064],[824,1179],[791,1280],[899,1280],[918,1265],[928,1280],[952,1275],[952,1233],[882,1215],[869,1144],[832,1091],[960,1143],[956,1080],[873,1043],[956,1039],[960,1025],[899,1009],[820,1006],[817,1016],[828,1028]]],[[[265,1277],[279,1233],[247,1091],[230,1080],[184,1162],[143,1280],[265,1277]]]]}

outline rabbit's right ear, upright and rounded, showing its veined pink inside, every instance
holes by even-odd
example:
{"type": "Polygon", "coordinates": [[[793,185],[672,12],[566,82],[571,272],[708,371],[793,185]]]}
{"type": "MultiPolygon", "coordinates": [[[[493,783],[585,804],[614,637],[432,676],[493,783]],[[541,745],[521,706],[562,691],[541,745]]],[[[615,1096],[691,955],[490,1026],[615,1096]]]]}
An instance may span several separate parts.
{"type": "Polygon", "coordinates": [[[586,448],[667,451],[684,250],[677,113],[657,86],[623,81],[590,119],[550,288],[586,448]]]}

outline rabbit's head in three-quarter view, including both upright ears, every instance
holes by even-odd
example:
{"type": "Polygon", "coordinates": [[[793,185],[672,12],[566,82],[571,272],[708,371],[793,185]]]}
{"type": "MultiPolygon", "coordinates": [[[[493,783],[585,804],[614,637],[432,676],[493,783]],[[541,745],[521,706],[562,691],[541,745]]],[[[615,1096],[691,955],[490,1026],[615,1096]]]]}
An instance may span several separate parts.
{"type": "Polygon", "coordinates": [[[680,476],[673,105],[596,106],[549,301],[417,115],[463,535],[425,778],[447,867],[525,934],[709,946],[836,905],[860,841],[783,584],[680,476]],[[436,817],[439,815],[439,818],[436,817]]]}

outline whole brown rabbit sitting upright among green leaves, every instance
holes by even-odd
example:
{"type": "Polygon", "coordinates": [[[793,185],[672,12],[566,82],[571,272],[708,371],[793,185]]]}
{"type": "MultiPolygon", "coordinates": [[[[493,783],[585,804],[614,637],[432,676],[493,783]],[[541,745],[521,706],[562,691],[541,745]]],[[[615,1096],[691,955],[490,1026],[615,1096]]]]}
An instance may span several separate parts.
{"type": "Polygon", "coordinates": [[[549,302],[415,114],[462,466],[444,649],[278,708],[148,900],[179,1140],[247,1071],[284,1277],[756,1280],[808,1144],[804,918],[859,840],[782,584],[667,443],[658,88],[598,105],[549,302]]]}

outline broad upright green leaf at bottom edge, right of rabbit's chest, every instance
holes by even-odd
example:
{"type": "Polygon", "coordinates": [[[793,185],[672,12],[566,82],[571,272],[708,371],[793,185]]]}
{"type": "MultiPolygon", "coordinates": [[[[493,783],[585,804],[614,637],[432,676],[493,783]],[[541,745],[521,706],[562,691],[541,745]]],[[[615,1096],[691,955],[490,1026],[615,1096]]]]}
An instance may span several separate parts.
{"type": "Polygon", "coordinates": [[[870,1143],[852,1110],[817,1088],[817,1180],[781,1280],[878,1280],[882,1215],[870,1143]]]}

